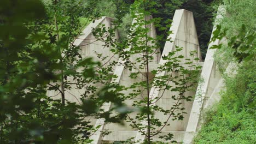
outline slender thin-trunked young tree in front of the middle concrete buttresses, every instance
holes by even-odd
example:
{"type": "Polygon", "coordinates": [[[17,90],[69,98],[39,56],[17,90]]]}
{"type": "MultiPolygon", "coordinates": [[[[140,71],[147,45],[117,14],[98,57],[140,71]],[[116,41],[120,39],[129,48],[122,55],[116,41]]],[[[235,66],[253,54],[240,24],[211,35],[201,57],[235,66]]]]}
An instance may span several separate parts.
{"type": "MultiPolygon", "coordinates": [[[[152,1],[135,1],[131,7],[131,16],[135,20],[127,32],[127,39],[121,42],[110,38],[106,40],[106,43],[112,41],[111,44],[115,47],[113,51],[118,51],[119,57],[124,61],[120,64],[124,64],[125,73],[129,74],[129,77],[125,77],[125,79],[133,81],[130,85],[123,85],[125,92],[124,95],[121,95],[121,99],[133,101],[131,105],[141,110],[141,112],[127,114],[126,122],[130,124],[130,127],[139,130],[142,136],[147,137],[144,141],[146,143],[153,143],[153,136],[159,136],[161,130],[168,125],[169,119],[183,119],[185,109],[182,107],[181,100],[193,99],[193,95],[185,95],[184,93],[191,91],[200,69],[199,66],[193,65],[193,61],[199,60],[195,57],[195,51],[190,53],[190,58],[185,59],[184,56],[178,55],[178,52],[182,50],[181,47],[176,47],[175,51],[162,57],[166,61],[164,64],[156,69],[150,68],[152,67],[151,64],[158,61],[156,55],[160,53],[159,42],[164,40],[163,35],[157,37],[149,35],[151,24],[154,23],[160,29],[166,29],[166,27],[161,27],[158,17],[148,19],[148,15],[156,11],[153,9],[153,5],[155,2],[152,1]],[[185,61],[184,63],[187,64],[188,68],[181,64],[182,61],[185,61]],[[159,75],[161,73],[167,75],[159,75]],[[173,73],[177,75],[173,75],[173,73]],[[174,83],[176,86],[170,85],[170,83],[174,83]],[[176,103],[169,107],[170,109],[156,105],[162,98],[162,94],[155,97],[154,94],[150,93],[152,89],[162,91],[162,94],[166,91],[177,92],[177,94],[172,95],[172,99],[176,103]],[[155,113],[167,115],[168,119],[162,121],[162,119],[155,117],[155,113]]],[[[98,29],[98,33],[100,33],[99,31],[100,29],[98,29]]],[[[168,33],[170,34],[170,32],[168,33]]],[[[98,39],[102,40],[101,37],[98,39]]],[[[168,134],[160,136],[160,138],[171,140],[172,135],[168,134]]]]}

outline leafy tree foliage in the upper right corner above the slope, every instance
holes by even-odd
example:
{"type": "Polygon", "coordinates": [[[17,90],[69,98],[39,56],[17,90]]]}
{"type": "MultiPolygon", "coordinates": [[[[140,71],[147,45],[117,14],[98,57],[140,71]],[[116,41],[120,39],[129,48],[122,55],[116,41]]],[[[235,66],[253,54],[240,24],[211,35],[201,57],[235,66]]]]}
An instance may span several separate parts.
{"type": "MultiPolygon", "coordinates": [[[[217,26],[212,39],[228,39],[228,51],[230,56],[233,55],[238,62],[243,60],[255,61],[255,19],[251,13],[255,1],[223,1],[225,9],[229,16],[222,19],[221,26],[217,26]],[[246,15],[246,16],[245,16],[246,15]]],[[[222,45],[213,46],[212,48],[220,49],[222,45]]]]}

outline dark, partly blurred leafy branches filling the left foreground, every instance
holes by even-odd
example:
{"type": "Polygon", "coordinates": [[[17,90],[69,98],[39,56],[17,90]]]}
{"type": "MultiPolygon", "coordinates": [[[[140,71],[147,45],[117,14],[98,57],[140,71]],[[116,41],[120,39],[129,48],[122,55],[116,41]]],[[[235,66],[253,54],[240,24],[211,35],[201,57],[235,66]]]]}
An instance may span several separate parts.
{"type": "Polygon", "coordinates": [[[112,117],[111,111],[98,108],[109,101],[117,109],[123,106],[118,89],[106,85],[95,91],[91,86],[107,84],[112,69],[83,58],[73,45],[83,28],[81,19],[98,16],[96,3],[0,1],[0,143],[88,143],[95,129],[85,117],[120,122],[124,114],[112,117]],[[74,86],[87,87],[73,94],[80,97],[78,103],[67,98],[74,86]],[[59,94],[48,97],[49,91],[59,94]]]}

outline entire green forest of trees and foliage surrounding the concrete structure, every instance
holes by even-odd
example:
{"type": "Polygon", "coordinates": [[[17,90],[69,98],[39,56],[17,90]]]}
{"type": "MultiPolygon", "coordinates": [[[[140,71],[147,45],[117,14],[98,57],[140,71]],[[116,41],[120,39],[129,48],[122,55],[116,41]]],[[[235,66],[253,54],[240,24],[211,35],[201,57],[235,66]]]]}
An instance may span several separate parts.
{"type": "MultiPolygon", "coordinates": [[[[149,90],[157,87],[177,92],[172,99],[191,101],[194,95],[186,96],[185,92],[197,85],[201,67],[193,65],[193,70],[188,70],[179,63],[184,56],[176,53],[182,47],[165,56],[167,62],[158,69],[150,71],[150,62],[155,54],[162,52],[166,41],[170,41],[169,29],[176,9],[193,12],[205,59],[219,5],[224,5],[227,14],[218,22],[213,39],[225,39],[227,43],[212,49],[217,49],[214,61],[225,88],[219,103],[204,111],[204,122],[193,143],[255,143],[254,0],[1,0],[0,143],[92,143],[90,136],[100,127],[94,127],[91,119],[120,125],[128,122],[129,127],[146,137],[144,143],[164,143],[152,141],[153,136],[168,126],[154,117],[155,113],[170,115],[170,121],[182,121],[185,108],[178,102],[171,110],[152,106],[161,97],[150,99],[149,90]],[[148,15],[153,19],[146,21],[144,17],[148,15]],[[109,82],[117,79],[112,74],[119,62],[104,63],[107,57],[100,53],[96,55],[101,61],[83,57],[80,47],[74,45],[74,39],[83,29],[102,16],[113,17],[113,26],[95,28],[96,41],[123,58],[125,68],[138,69],[136,73],[131,72],[129,79],[137,80],[142,75],[142,82],[127,87],[109,82]],[[137,21],[132,22],[133,19],[137,21]],[[148,37],[150,23],[154,23],[156,38],[148,37]],[[141,56],[137,63],[130,61],[133,55],[141,56]],[[234,75],[225,73],[230,63],[236,65],[234,75]],[[180,75],[154,77],[156,81],[151,81],[151,73],[157,75],[163,71],[180,75]],[[170,81],[177,87],[168,85],[170,81]],[[69,93],[73,87],[83,93],[69,93]],[[144,90],[137,90],[138,87],[144,90]],[[56,95],[49,97],[49,91],[56,95]],[[126,95],[124,91],[130,93],[126,95]],[[78,102],[68,100],[68,95],[78,102]],[[132,106],[126,105],[126,100],[139,95],[144,96],[133,101],[132,106]],[[102,107],[108,103],[112,106],[104,111],[102,107]],[[135,117],[129,117],[135,112],[135,117]],[[141,124],[142,121],[147,124],[141,124]]],[[[196,52],[191,52],[193,58],[186,59],[188,64],[200,60],[194,56],[196,52]]],[[[108,135],[107,131],[103,135],[108,135]]],[[[172,134],[159,137],[176,143],[172,134]]]]}

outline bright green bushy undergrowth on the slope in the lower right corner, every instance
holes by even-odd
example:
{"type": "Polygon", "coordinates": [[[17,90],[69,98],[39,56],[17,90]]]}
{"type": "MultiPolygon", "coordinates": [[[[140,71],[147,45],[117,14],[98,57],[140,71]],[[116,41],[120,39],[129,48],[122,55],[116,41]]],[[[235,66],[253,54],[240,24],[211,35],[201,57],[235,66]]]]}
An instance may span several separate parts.
{"type": "Polygon", "coordinates": [[[254,143],[255,62],[241,65],[235,77],[226,77],[226,91],[195,137],[194,143],[254,143]]]}

